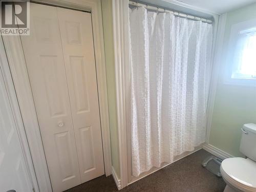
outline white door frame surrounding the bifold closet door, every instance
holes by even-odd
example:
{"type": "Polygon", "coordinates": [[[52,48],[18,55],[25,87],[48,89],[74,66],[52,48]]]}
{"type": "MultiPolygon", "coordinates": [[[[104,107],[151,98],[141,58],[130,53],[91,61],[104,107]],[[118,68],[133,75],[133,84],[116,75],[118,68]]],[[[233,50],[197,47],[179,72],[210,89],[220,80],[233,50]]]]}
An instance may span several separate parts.
{"type": "MultiPolygon", "coordinates": [[[[112,159],[110,145],[109,107],[106,87],[103,26],[100,0],[36,0],[55,6],[91,11],[95,62],[97,73],[100,123],[104,156],[105,175],[111,175],[112,159]]],[[[22,114],[25,131],[31,151],[39,191],[52,191],[44,148],[37,121],[34,100],[27,72],[22,42],[19,36],[3,36],[10,71],[22,114]]],[[[25,142],[25,140],[22,140],[25,142]]]]}

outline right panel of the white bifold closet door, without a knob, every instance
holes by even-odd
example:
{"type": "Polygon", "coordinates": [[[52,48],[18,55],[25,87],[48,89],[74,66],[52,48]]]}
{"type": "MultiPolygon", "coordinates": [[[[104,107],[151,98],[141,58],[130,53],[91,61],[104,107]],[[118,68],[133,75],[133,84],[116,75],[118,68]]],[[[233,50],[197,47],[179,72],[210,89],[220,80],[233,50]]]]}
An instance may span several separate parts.
{"type": "Polygon", "coordinates": [[[81,181],[104,174],[91,14],[57,8],[81,181]]]}

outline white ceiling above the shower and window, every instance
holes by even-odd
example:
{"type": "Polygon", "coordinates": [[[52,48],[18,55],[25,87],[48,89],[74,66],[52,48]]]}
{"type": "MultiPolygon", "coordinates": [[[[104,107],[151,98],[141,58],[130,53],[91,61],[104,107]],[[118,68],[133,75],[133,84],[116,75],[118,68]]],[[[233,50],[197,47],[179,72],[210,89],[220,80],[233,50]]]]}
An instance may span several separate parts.
{"type": "Polygon", "coordinates": [[[256,0],[163,0],[169,3],[184,3],[212,13],[222,14],[252,3],[256,0]]]}

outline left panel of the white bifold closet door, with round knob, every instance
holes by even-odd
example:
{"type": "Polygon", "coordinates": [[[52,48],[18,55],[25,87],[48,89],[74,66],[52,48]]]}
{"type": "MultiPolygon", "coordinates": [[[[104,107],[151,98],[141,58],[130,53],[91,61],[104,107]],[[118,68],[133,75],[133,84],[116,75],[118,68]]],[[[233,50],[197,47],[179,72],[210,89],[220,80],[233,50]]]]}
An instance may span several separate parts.
{"type": "Polygon", "coordinates": [[[30,36],[21,38],[53,190],[63,191],[81,180],[57,9],[31,3],[30,11],[30,36]]]}

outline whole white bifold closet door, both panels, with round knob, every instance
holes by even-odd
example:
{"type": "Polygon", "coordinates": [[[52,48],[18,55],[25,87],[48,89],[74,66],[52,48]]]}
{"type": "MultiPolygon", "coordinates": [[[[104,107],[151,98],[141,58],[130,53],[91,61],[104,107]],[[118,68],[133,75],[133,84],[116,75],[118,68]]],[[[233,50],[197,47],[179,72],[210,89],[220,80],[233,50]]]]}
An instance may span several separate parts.
{"type": "Polygon", "coordinates": [[[91,14],[30,4],[22,44],[54,191],[104,174],[91,14]]]}

